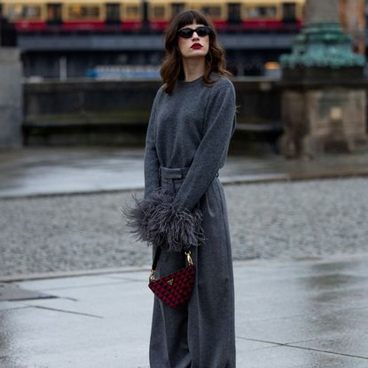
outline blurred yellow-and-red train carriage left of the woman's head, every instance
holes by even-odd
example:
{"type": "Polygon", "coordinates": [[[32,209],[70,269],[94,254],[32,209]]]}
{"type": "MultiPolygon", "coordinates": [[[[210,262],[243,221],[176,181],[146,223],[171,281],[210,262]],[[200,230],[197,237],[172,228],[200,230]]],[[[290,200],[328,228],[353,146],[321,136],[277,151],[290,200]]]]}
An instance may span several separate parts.
{"type": "Polygon", "coordinates": [[[108,31],[142,28],[142,2],[100,0],[4,0],[4,16],[20,32],[108,31]]]}

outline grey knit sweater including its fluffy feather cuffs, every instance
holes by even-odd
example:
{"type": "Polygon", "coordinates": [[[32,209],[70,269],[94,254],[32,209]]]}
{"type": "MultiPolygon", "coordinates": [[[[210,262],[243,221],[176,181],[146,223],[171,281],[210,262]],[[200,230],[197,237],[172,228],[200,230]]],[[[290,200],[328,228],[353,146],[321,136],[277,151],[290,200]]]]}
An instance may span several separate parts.
{"type": "Polygon", "coordinates": [[[170,231],[175,231],[176,238],[180,233],[179,238],[185,238],[176,239],[178,243],[196,245],[188,239],[199,235],[198,229],[189,229],[200,226],[199,209],[195,206],[223,167],[236,128],[232,82],[215,73],[211,79],[217,81],[212,86],[205,85],[202,77],[192,82],[177,81],[172,95],[162,85],[154,98],[145,141],[145,197],[136,198],[136,208],[127,211],[129,224],[149,243],[162,245],[170,231]],[[175,198],[157,196],[161,185],[160,166],[190,167],[175,198]],[[170,208],[165,218],[162,218],[163,211],[161,217],[155,211],[162,204],[170,208]],[[191,218],[193,214],[197,220],[191,218]],[[186,222],[188,226],[178,231],[175,218],[177,223],[186,222]],[[172,229],[168,229],[167,223],[171,223],[172,229]]]}

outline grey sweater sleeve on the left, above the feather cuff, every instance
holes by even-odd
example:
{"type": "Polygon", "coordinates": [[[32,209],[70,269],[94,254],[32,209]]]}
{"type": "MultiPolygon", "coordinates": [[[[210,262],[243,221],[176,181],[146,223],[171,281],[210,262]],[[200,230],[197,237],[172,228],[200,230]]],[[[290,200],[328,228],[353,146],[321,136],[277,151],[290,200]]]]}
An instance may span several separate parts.
{"type": "Polygon", "coordinates": [[[154,134],[156,111],[160,94],[161,88],[157,91],[156,97],[153,100],[153,107],[145,136],[145,197],[153,193],[160,186],[160,161],[157,157],[154,134]]]}

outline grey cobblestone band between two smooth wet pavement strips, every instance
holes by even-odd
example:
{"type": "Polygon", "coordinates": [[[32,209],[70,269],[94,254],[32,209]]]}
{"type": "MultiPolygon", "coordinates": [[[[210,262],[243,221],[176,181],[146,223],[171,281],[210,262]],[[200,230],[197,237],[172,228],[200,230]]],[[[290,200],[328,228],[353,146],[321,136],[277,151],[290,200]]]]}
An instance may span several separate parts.
{"type": "MultiPolygon", "coordinates": [[[[368,254],[367,178],[224,188],[234,260],[368,254]]],[[[0,200],[0,276],[150,264],[122,221],[131,193],[0,200]]]]}

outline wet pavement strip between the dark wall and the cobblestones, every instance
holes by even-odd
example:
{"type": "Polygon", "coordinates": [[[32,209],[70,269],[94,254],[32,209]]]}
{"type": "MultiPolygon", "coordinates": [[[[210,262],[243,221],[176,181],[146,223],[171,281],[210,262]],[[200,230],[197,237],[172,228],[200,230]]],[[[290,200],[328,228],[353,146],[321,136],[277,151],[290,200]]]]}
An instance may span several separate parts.
{"type": "MultiPolygon", "coordinates": [[[[0,198],[142,189],[142,149],[29,147],[0,151],[0,198]]],[[[314,161],[229,156],[223,184],[336,176],[368,176],[368,153],[330,154],[314,161]]]]}

